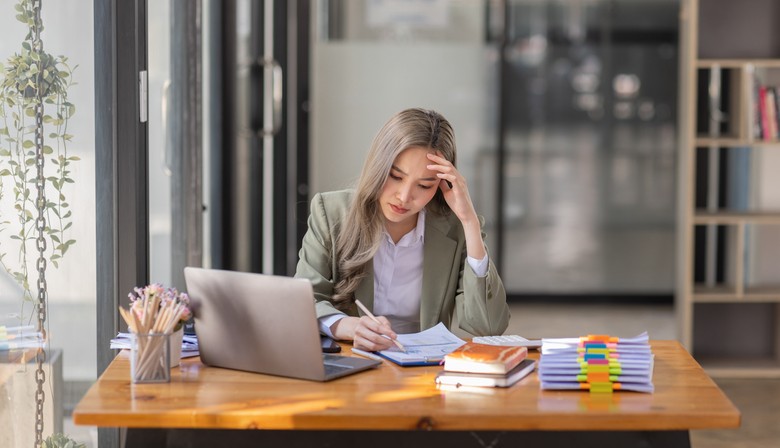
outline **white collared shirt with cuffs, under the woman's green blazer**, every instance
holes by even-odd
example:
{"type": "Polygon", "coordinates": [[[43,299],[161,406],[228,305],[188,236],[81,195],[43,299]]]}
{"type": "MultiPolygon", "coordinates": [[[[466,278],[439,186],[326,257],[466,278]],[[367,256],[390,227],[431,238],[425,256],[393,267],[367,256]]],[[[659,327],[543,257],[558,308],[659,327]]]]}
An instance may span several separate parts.
{"type": "MultiPolygon", "coordinates": [[[[374,309],[385,316],[396,333],[420,331],[420,301],[422,300],[423,248],[425,247],[425,209],[417,216],[417,226],[402,236],[398,243],[384,231],[374,255],[374,309]]],[[[466,257],[477,277],[488,271],[488,256],[482,260],[466,257]]],[[[330,327],[347,317],[344,313],[319,318],[320,331],[330,337],[330,327]]]]}

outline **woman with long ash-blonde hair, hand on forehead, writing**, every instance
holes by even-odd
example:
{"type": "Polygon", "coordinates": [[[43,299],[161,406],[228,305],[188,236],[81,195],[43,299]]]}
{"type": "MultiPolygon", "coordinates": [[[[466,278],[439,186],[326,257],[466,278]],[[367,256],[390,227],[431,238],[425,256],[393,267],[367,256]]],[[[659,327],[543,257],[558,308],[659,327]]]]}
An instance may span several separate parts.
{"type": "Polygon", "coordinates": [[[295,276],[312,282],[320,330],[384,350],[397,333],[449,327],[457,309],[469,333],[503,333],[506,292],[482,222],[455,168],[450,123],[399,112],[374,137],[355,190],[312,198],[295,276]],[[360,317],[355,299],[379,323],[360,317]]]}

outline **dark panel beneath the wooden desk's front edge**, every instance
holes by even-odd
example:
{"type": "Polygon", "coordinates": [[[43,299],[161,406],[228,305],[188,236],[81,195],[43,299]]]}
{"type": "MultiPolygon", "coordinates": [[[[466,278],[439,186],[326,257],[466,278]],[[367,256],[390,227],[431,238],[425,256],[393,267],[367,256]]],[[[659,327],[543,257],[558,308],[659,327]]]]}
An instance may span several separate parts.
{"type": "MultiPolygon", "coordinates": [[[[123,431],[124,432],[124,431],[123,431]]],[[[218,429],[126,430],[123,447],[199,448],[690,448],[688,431],[262,431],[218,429]]]]}

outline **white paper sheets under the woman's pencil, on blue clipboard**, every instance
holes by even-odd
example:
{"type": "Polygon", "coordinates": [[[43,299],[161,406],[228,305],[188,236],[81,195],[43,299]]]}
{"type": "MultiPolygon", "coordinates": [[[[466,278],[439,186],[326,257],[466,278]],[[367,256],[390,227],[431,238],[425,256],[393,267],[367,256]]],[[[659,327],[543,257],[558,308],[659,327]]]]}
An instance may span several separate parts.
{"type": "Polygon", "coordinates": [[[444,355],[466,343],[441,322],[419,333],[399,334],[398,342],[406,352],[393,347],[377,354],[401,366],[430,366],[441,363],[444,355]]]}

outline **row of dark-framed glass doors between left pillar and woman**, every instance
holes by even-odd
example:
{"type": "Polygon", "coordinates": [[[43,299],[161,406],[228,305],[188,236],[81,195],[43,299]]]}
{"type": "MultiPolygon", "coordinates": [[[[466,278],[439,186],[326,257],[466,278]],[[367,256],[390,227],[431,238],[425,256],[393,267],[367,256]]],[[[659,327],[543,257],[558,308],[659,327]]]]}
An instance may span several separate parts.
{"type": "Polygon", "coordinates": [[[297,3],[149,5],[152,281],[183,289],[188,265],[287,271],[287,17],[297,3]]]}

